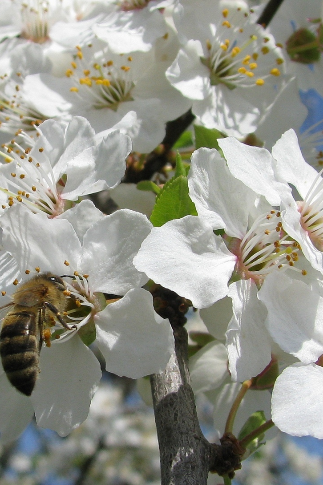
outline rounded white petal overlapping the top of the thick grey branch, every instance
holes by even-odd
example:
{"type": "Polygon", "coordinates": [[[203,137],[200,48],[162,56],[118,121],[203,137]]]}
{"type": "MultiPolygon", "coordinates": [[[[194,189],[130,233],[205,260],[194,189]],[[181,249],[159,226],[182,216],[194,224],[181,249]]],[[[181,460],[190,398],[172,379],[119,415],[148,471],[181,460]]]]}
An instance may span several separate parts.
{"type": "Polygon", "coordinates": [[[97,344],[106,370],[133,379],[162,372],[174,352],[168,320],[153,310],[152,296],[141,288],[96,314],[97,344]]]}

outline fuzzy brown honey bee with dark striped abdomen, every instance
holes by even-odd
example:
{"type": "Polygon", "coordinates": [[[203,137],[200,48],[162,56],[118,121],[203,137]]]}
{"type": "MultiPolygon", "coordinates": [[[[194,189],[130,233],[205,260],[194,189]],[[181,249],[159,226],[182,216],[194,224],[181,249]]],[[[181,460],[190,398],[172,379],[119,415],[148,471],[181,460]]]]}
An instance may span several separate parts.
{"type": "MultiPolygon", "coordinates": [[[[45,327],[59,321],[71,330],[62,317],[67,297],[61,276],[39,273],[18,286],[14,306],[3,319],[0,333],[0,356],[11,384],[30,396],[39,374],[39,353],[44,341],[45,327]]],[[[74,326],[75,327],[75,326],[74,326]]]]}

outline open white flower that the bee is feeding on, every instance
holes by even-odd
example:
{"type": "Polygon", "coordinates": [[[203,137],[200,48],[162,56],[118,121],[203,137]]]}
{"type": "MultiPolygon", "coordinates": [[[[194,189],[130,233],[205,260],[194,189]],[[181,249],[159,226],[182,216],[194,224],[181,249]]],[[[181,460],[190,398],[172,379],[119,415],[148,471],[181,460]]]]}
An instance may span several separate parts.
{"type": "MultiPolygon", "coordinates": [[[[66,435],[86,418],[101,376],[87,345],[97,344],[107,370],[132,378],[160,372],[174,350],[168,320],[154,313],[151,295],[141,288],[148,278],[132,264],[151,225],[142,214],[120,210],[78,236],[66,219],[49,220],[23,206],[7,211],[2,222],[4,249],[18,265],[17,279],[26,281],[37,271],[63,277],[68,300],[64,320],[71,328],[59,321],[49,327],[46,343],[51,345],[42,345],[30,397],[18,393],[4,372],[0,376],[2,396],[13,407],[24,404],[18,420],[15,413],[12,418],[3,414],[2,438],[17,436],[33,412],[40,426],[66,435]],[[103,292],[114,302],[105,306],[103,292]]],[[[12,284],[3,287],[9,295],[15,289],[12,284]]],[[[51,317],[58,320],[55,311],[51,317]]]]}

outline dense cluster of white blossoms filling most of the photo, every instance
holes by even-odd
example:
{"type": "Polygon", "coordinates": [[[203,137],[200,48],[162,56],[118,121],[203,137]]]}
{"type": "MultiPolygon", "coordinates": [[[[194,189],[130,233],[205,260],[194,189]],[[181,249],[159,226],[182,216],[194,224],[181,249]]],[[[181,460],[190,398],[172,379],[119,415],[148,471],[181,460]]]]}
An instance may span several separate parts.
{"type": "Polygon", "coordinates": [[[251,390],[246,419],[269,418],[272,401],[280,429],[323,437],[323,140],[308,121],[309,95],[323,95],[321,2],[304,14],[285,0],[268,26],[254,4],[2,1],[2,306],[47,272],[66,299],[66,327],[40,307],[55,322],[40,322],[31,396],[1,367],[2,440],[33,414],[61,435],[84,421],[101,377],[91,344],[120,376],[165,369],[173,332],[149,279],[199,310],[211,341],[192,383],[220,429],[239,383],[276,366],[272,398],[251,390]],[[149,220],[127,173],[167,150],[167,123],[189,110],[190,163],[169,150],[144,194],[149,220]],[[102,191],[118,210],[94,205],[102,191]]]}

